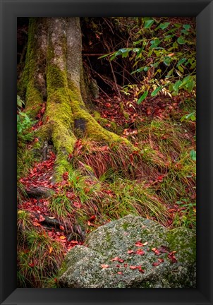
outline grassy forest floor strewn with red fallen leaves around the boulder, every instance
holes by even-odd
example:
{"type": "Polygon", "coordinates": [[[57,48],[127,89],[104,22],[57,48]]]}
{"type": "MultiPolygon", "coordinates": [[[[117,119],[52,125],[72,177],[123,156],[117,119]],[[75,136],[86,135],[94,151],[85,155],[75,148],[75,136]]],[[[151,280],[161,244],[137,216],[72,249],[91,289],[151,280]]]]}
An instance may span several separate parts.
{"type": "MultiPolygon", "coordinates": [[[[44,109],[45,104],[32,130],[42,125],[44,109]]],[[[47,160],[39,160],[32,158],[31,149],[38,139],[27,144],[18,162],[19,189],[42,187],[54,195],[18,193],[18,229],[28,232],[22,235],[27,243],[18,249],[20,287],[53,287],[54,272],[67,251],[83,244],[85,234],[125,215],[140,215],[169,228],[195,227],[195,121],[181,120],[191,112],[195,102],[187,93],[147,98],[140,105],[132,95],[99,95],[92,115],[104,128],[130,140],[135,151],[126,156],[128,150],[79,138],[69,156],[73,170],[57,182],[54,150],[49,148],[47,160]]]]}

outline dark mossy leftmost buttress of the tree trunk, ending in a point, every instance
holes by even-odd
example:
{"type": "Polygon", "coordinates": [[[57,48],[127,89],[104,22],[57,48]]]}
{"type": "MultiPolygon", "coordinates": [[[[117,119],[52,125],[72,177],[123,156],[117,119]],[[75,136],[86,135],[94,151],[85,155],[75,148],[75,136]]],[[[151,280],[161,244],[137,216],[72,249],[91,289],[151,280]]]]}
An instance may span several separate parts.
{"type": "Polygon", "coordinates": [[[47,54],[46,18],[30,18],[28,49],[23,75],[18,82],[18,94],[25,100],[25,111],[35,119],[46,100],[45,64],[47,54]],[[39,52],[38,52],[39,50],[39,52]]]}

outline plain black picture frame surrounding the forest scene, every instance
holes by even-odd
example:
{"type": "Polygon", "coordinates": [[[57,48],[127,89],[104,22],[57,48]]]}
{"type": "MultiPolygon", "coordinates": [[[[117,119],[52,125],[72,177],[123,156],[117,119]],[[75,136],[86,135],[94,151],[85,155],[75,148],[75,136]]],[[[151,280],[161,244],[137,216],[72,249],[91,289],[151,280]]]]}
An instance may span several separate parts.
{"type": "Polygon", "coordinates": [[[1,3],[1,304],[212,304],[211,0],[0,0],[1,3]],[[16,288],[16,25],[30,16],[196,16],[197,288],[16,288]]]}

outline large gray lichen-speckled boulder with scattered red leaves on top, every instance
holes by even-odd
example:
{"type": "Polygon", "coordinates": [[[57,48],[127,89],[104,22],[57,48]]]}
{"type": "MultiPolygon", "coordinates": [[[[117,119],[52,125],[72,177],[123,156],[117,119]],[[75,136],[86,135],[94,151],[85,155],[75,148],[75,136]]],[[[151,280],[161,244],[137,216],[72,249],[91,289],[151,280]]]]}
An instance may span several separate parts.
{"type": "Polygon", "coordinates": [[[128,215],[99,227],[66,255],[59,287],[195,288],[195,231],[128,215]],[[174,252],[176,251],[176,252],[174,252]]]}

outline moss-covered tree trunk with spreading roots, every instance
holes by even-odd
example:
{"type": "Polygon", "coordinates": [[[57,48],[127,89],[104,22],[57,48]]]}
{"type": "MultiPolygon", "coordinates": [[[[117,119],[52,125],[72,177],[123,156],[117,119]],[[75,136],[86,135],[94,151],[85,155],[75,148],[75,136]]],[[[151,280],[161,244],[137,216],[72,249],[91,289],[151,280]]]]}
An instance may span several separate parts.
{"type": "Polygon", "coordinates": [[[41,143],[52,141],[59,172],[66,169],[67,155],[73,152],[77,137],[128,143],[102,128],[85,107],[81,52],[79,18],[30,18],[25,69],[18,90],[25,95],[26,111],[32,118],[47,102],[37,135],[41,143]]]}

